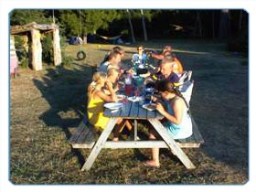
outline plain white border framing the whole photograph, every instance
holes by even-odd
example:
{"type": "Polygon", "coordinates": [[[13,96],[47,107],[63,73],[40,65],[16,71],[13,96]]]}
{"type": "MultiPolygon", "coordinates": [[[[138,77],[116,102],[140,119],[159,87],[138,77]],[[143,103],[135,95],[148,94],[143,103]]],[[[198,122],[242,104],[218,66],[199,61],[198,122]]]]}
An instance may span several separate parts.
{"type": "MultiPolygon", "coordinates": [[[[161,191],[217,191],[217,190],[230,190],[230,191],[251,191],[252,187],[256,183],[255,176],[255,165],[252,163],[255,161],[255,149],[252,149],[252,146],[255,146],[255,139],[252,136],[256,135],[255,133],[255,123],[253,123],[252,114],[255,114],[255,110],[253,109],[255,106],[255,101],[253,98],[255,97],[255,93],[252,89],[254,83],[255,74],[252,74],[253,71],[256,71],[254,66],[255,62],[255,45],[251,42],[256,42],[255,36],[253,37],[251,34],[256,34],[255,25],[256,23],[256,1],[255,0],[0,0],[0,65],[2,69],[0,70],[0,106],[1,106],[1,115],[0,115],[0,191],[19,191],[19,192],[30,192],[30,191],[44,191],[44,190],[58,190],[68,191],[72,189],[79,190],[106,190],[105,186],[15,186],[9,181],[9,153],[10,153],[10,144],[9,144],[9,120],[10,120],[10,110],[9,110],[9,13],[15,8],[74,8],[74,9],[86,9],[86,8],[155,8],[155,9],[220,9],[220,8],[228,8],[228,9],[245,9],[249,13],[249,27],[250,27],[250,176],[249,182],[243,186],[144,186],[144,188],[140,186],[129,186],[133,187],[133,191],[141,191],[144,190],[161,190],[161,191]],[[43,3],[42,3],[43,2],[43,3]],[[254,9],[254,10],[253,10],[254,9]],[[251,25],[253,23],[253,25],[251,25]],[[253,171],[252,171],[253,170],[253,171]]],[[[117,186],[108,186],[107,190],[125,190],[127,188],[117,187],[117,186]]]]}

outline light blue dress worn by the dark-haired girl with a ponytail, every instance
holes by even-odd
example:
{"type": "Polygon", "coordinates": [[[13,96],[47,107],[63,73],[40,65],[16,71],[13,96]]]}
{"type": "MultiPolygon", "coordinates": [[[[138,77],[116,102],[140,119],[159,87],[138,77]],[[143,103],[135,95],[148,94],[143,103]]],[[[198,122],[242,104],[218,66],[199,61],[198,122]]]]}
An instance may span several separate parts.
{"type": "MultiPolygon", "coordinates": [[[[174,115],[174,110],[170,101],[165,101],[165,109],[171,115],[174,115]]],[[[166,121],[163,123],[168,133],[172,135],[174,139],[185,139],[192,135],[192,122],[187,110],[184,111],[182,121],[180,124],[171,123],[166,121]]]]}

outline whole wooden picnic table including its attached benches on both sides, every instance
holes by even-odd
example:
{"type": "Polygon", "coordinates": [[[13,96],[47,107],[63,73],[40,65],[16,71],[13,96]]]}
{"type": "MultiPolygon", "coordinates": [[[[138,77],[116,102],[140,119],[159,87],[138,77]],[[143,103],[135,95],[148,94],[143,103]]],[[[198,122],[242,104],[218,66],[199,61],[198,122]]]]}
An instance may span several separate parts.
{"type": "Polygon", "coordinates": [[[159,112],[149,111],[144,109],[143,105],[139,101],[123,101],[123,106],[112,111],[105,108],[104,116],[110,117],[110,121],[101,133],[97,141],[95,141],[93,127],[89,125],[87,120],[80,123],[77,132],[69,139],[69,143],[73,148],[91,148],[91,153],[86,159],[81,170],[90,170],[97,156],[101,153],[102,148],[169,148],[173,154],[187,167],[187,169],[193,169],[196,166],[190,161],[182,147],[199,147],[204,143],[201,133],[197,129],[197,124],[192,118],[193,134],[187,139],[174,140],[172,136],[167,133],[165,127],[160,122],[163,115],[159,112]],[[112,130],[119,118],[127,119],[133,122],[133,140],[125,141],[108,141],[112,130]],[[162,140],[138,140],[138,122],[148,121],[154,127],[156,133],[159,133],[162,140]]]}

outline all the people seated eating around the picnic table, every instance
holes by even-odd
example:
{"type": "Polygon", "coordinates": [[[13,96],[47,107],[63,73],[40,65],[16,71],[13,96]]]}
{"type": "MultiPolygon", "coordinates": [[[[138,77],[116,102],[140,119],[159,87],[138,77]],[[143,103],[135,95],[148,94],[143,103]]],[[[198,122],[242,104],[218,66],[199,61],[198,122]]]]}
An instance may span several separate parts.
{"type": "MultiPolygon", "coordinates": [[[[155,85],[158,96],[151,96],[155,102],[155,109],[164,118],[161,120],[167,133],[174,139],[187,138],[192,134],[192,123],[188,114],[188,104],[181,92],[177,89],[179,78],[183,74],[183,67],[173,54],[171,46],[165,46],[161,54],[152,51],[145,53],[143,46],[137,47],[136,57],[139,65],[145,65],[146,59],[159,60],[155,69],[148,72],[144,78],[144,85],[151,83],[155,85]]],[[[106,127],[109,118],[103,115],[104,103],[118,101],[119,81],[122,76],[133,75],[134,70],[123,69],[122,59],[124,50],[114,47],[105,56],[98,71],[93,74],[91,84],[88,87],[87,114],[89,123],[95,127],[96,132],[102,132],[106,127]]],[[[135,65],[135,62],[133,62],[135,65]]],[[[119,135],[123,128],[132,130],[133,124],[126,119],[120,118],[113,130],[112,141],[119,141],[119,135]]],[[[155,140],[158,137],[152,128],[149,131],[149,139],[155,140]]],[[[152,159],[145,162],[145,165],[159,167],[159,148],[152,149],[152,159]]]]}

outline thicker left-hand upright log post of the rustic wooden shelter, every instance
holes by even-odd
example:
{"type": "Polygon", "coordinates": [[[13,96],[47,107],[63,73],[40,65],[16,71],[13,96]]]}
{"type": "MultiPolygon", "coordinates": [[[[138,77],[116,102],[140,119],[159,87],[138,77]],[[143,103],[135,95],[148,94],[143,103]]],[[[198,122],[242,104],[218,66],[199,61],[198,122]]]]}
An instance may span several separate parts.
{"type": "Polygon", "coordinates": [[[43,69],[42,65],[42,44],[41,44],[41,34],[37,29],[31,29],[31,64],[32,69],[41,70],[43,69]]]}

